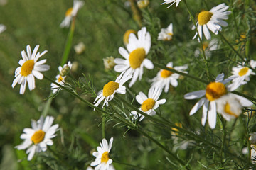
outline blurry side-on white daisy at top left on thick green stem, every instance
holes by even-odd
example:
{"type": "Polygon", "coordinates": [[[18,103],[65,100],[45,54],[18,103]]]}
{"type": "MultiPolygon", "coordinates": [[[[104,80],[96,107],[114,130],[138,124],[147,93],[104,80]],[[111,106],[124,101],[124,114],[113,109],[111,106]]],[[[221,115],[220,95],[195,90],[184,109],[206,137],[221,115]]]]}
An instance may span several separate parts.
{"type": "Polygon", "coordinates": [[[82,6],[85,4],[84,1],[79,1],[79,0],[74,0],[73,1],[73,7],[69,8],[66,13],[65,13],[65,18],[64,20],[60,23],[60,27],[69,27],[70,26],[70,21],[72,20],[73,17],[75,17],[78,13],[78,10],[82,8],[82,6]]]}

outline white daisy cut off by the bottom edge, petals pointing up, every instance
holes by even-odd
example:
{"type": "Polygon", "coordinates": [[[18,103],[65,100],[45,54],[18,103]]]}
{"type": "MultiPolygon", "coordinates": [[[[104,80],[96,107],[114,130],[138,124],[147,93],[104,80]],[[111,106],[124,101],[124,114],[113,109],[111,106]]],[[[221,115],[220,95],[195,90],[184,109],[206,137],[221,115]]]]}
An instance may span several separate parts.
{"type": "Polygon", "coordinates": [[[112,164],[112,159],[110,159],[110,150],[113,143],[113,137],[110,138],[110,143],[104,138],[100,142],[100,147],[97,147],[97,152],[93,152],[92,155],[96,157],[95,162],[92,162],[90,166],[96,166],[95,170],[110,170],[110,164],[112,164]]]}

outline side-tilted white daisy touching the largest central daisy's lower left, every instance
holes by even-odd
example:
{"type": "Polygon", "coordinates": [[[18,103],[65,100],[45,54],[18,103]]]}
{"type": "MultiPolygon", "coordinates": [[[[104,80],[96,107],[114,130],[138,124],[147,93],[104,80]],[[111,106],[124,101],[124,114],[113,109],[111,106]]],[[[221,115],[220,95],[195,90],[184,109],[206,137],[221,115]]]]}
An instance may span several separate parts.
{"type": "MultiPolygon", "coordinates": [[[[123,86],[123,84],[132,78],[132,75],[125,75],[124,72],[122,72],[119,77],[115,81],[110,81],[103,87],[103,90],[98,93],[97,98],[95,98],[94,103],[95,106],[99,106],[100,102],[102,102],[104,99],[103,106],[107,105],[108,102],[111,101],[114,98],[114,94],[125,94],[126,88],[123,86]]],[[[102,106],[102,108],[103,108],[102,106]]]]}

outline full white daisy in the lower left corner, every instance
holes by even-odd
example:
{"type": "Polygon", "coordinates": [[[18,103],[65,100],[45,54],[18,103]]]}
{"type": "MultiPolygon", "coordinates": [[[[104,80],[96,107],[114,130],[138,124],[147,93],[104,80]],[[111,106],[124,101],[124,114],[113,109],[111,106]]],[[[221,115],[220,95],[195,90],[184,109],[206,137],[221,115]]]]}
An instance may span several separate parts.
{"type": "Polygon", "coordinates": [[[58,124],[53,125],[54,118],[52,116],[46,116],[46,119],[41,116],[41,118],[36,120],[31,120],[32,128],[25,128],[23,134],[21,134],[21,139],[23,143],[16,146],[18,150],[26,150],[28,154],[28,161],[33,158],[36,152],[46,152],[47,145],[53,145],[53,140],[51,138],[55,137],[55,132],[58,129],[58,124]]]}

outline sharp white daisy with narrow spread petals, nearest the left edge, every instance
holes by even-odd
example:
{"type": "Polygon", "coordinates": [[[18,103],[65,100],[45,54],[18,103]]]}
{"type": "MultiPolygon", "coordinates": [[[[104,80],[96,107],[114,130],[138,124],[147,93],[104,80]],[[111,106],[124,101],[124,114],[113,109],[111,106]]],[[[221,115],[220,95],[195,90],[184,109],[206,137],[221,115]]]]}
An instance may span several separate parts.
{"type": "Polygon", "coordinates": [[[27,54],[24,50],[21,52],[22,59],[18,62],[21,66],[15,70],[15,79],[11,84],[12,88],[14,88],[17,83],[21,84],[20,94],[25,93],[27,83],[29,90],[35,89],[35,77],[37,79],[43,79],[43,74],[41,74],[41,72],[50,69],[50,66],[44,64],[46,63],[46,59],[38,62],[38,59],[47,52],[47,50],[44,50],[40,53],[38,52],[38,48],[39,45],[36,45],[33,52],[31,52],[30,45],[27,45],[27,54]]]}

